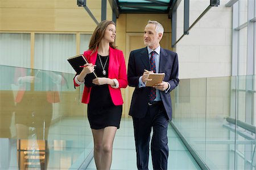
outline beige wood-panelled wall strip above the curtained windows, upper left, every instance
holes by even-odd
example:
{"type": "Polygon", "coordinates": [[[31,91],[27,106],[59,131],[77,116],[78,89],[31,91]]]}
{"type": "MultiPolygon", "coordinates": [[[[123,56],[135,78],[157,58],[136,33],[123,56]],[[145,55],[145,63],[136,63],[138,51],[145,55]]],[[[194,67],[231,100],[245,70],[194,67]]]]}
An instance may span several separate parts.
{"type": "MultiPolygon", "coordinates": [[[[76,0],[0,0],[0,31],[92,32],[96,23],[76,4],[76,0]]],[[[86,5],[100,21],[101,0],[87,0],[86,5]]],[[[107,19],[112,19],[109,3],[107,19]]]]}

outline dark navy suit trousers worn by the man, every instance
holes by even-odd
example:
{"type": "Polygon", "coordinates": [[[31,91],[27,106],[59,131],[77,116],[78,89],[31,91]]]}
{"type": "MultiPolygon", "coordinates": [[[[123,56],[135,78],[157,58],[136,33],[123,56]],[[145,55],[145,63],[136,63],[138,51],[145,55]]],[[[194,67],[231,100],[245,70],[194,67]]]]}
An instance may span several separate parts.
{"type": "Polygon", "coordinates": [[[150,133],[152,164],[155,170],[166,170],[168,159],[168,117],[163,103],[148,106],[144,118],[133,118],[135,146],[137,152],[137,168],[148,169],[150,133]]]}

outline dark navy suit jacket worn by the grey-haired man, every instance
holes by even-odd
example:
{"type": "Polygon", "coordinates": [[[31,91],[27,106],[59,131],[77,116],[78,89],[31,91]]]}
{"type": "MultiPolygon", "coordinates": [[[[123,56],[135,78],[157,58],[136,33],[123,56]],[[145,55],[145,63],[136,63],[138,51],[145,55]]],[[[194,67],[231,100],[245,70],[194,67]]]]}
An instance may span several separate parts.
{"type": "MultiPolygon", "coordinates": [[[[139,77],[143,75],[144,69],[150,70],[150,61],[146,48],[131,51],[128,64],[128,83],[129,86],[135,87],[129,115],[135,118],[143,118],[147,113],[150,88],[139,88],[139,77]]],[[[169,82],[171,88],[166,93],[160,91],[164,108],[168,118],[172,119],[172,104],[170,92],[179,84],[178,78],[178,58],[177,53],[167,49],[160,49],[159,73],[166,73],[163,81],[169,82]]]]}

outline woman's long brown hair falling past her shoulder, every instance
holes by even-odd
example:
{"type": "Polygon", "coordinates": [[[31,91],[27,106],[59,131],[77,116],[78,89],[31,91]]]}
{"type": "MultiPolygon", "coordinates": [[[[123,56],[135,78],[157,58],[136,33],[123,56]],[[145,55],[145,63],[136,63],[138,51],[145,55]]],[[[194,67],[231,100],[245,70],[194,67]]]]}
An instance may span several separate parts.
{"type": "MultiPolygon", "coordinates": [[[[115,26],[115,23],[112,20],[102,20],[95,28],[89,43],[89,50],[91,50],[92,53],[96,52],[96,50],[98,49],[98,45],[104,37],[106,27],[108,27],[109,24],[113,24],[115,26]]],[[[117,48],[115,46],[115,41],[113,43],[109,43],[109,45],[112,48],[117,48]]]]}

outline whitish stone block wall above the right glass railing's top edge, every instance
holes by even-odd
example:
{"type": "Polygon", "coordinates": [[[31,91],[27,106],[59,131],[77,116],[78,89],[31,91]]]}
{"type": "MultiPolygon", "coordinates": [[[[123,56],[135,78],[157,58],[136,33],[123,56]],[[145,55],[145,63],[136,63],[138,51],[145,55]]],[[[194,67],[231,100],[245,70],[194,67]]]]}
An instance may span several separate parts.
{"type": "MultiPolygon", "coordinates": [[[[232,7],[228,0],[212,7],[176,45],[179,77],[230,76],[232,69],[232,7]]],[[[177,9],[177,39],[183,34],[183,6],[177,9]]],[[[189,25],[209,6],[209,1],[190,1],[189,25]]]]}

